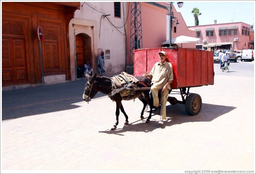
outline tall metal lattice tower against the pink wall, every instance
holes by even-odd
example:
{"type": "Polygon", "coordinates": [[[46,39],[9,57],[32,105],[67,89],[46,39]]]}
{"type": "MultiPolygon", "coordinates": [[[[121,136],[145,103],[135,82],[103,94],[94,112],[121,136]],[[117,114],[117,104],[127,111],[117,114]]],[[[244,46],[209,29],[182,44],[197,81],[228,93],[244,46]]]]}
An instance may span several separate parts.
{"type": "Polygon", "coordinates": [[[131,44],[130,62],[133,62],[134,49],[142,49],[141,3],[131,3],[131,44]]]}

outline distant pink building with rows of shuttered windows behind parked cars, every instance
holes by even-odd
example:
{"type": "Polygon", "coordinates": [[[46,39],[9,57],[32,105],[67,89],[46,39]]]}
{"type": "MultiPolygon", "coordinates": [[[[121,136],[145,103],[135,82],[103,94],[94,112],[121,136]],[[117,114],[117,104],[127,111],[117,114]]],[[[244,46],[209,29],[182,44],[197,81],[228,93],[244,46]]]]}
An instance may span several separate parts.
{"type": "Polygon", "coordinates": [[[197,49],[210,47],[212,50],[242,50],[250,49],[254,43],[253,29],[243,22],[217,24],[215,20],[211,25],[188,27],[196,31],[194,37],[200,38],[196,44],[197,49]]]}

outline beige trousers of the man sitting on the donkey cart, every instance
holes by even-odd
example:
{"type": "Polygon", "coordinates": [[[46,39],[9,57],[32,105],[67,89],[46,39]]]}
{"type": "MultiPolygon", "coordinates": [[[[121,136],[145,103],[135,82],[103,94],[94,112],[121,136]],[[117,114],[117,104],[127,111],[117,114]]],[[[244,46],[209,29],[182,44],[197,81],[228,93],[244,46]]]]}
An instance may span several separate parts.
{"type": "Polygon", "coordinates": [[[162,119],[166,119],[166,102],[169,94],[169,90],[166,89],[164,92],[161,91],[160,104],[158,98],[158,91],[162,89],[158,89],[155,86],[151,86],[151,93],[153,96],[153,105],[155,107],[159,107],[161,105],[160,116],[162,119]]]}

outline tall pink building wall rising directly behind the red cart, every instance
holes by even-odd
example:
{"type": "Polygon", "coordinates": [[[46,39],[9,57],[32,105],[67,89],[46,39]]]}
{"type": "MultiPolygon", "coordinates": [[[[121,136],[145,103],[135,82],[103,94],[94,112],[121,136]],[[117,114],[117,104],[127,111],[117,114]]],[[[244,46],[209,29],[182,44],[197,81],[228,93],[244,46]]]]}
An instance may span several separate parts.
{"type": "MultiPolygon", "coordinates": [[[[133,43],[131,40],[134,38],[134,31],[131,31],[131,14],[132,14],[132,5],[127,3],[128,11],[128,20],[127,20],[127,65],[133,64],[133,56],[131,55],[131,47],[133,43]]],[[[140,5],[137,4],[138,11],[140,12],[141,18],[138,17],[138,20],[141,20],[139,29],[141,29],[141,40],[140,45],[137,49],[148,49],[148,48],[160,48],[164,41],[169,40],[170,38],[170,3],[166,2],[141,2],[140,5]],[[140,9],[139,9],[140,8],[140,9]]],[[[176,22],[172,24],[172,38],[178,36],[189,36],[195,37],[195,30],[191,30],[187,27],[182,15],[180,12],[177,12],[174,5],[172,4],[173,16],[177,17],[179,26],[176,25],[176,22]]],[[[133,21],[132,21],[133,22],[133,21]]],[[[183,43],[183,44],[172,44],[173,46],[182,45],[183,48],[193,48],[195,49],[196,43],[183,43]]]]}

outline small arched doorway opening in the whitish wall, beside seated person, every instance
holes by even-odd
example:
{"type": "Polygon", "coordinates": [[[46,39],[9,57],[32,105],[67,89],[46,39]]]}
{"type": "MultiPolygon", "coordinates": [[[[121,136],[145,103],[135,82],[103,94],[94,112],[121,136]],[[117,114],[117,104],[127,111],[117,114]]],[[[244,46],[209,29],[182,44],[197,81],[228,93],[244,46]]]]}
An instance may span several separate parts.
{"type": "Polygon", "coordinates": [[[92,66],[91,37],[85,33],[76,35],[77,65],[81,68],[85,61],[89,61],[92,66]]]}

